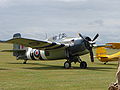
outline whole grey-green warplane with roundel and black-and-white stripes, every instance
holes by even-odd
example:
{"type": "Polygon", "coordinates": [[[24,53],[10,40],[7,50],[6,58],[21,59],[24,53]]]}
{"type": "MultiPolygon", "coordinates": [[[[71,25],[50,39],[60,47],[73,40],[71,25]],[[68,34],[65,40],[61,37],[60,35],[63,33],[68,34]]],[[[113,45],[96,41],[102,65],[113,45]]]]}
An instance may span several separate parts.
{"type": "Polygon", "coordinates": [[[91,62],[94,62],[92,48],[98,34],[91,39],[88,36],[71,38],[65,33],[59,34],[47,40],[34,40],[22,38],[20,33],[13,35],[13,38],[1,43],[13,44],[13,50],[1,50],[1,52],[13,52],[17,60],[60,60],[66,59],[64,68],[71,68],[71,63],[80,63],[80,68],[87,68],[87,63],[80,59],[80,56],[90,53],[91,62]]]}

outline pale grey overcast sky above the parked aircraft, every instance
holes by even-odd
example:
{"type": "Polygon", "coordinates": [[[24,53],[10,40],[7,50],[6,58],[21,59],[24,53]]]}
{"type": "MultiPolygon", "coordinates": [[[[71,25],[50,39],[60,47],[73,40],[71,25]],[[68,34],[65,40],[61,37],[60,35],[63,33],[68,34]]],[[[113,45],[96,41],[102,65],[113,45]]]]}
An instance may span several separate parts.
{"type": "Polygon", "coordinates": [[[99,33],[98,43],[119,42],[120,0],[0,0],[0,32],[1,40],[99,33]]]}

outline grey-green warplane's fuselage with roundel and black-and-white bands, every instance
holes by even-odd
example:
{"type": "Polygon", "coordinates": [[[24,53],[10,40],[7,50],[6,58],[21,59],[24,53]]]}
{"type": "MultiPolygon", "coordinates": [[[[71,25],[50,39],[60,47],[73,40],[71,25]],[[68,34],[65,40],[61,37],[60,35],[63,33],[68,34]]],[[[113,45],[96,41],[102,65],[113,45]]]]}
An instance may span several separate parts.
{"type": "Polygon", "coordinates": [[[81,38],[63,38],[58,43],[68,45],[68,48],[57,48],[52,50],[38,50],[28,47],[26,58],[28,60],[59,60],[67,58],[67,50],[72,56],[81,56],[89,53],[85,41],[81,38]]]}

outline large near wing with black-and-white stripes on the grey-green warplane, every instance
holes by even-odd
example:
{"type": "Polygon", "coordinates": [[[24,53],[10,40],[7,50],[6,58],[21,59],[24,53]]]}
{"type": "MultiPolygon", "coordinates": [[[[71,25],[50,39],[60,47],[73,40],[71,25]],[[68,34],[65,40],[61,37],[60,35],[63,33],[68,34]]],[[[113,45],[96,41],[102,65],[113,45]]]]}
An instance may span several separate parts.
{"type": "Polygon", "coordinates": [[[33,49],[44,49],[44,50],[68,47],[68,45],[61,43],[56,43],[51,41],[39,41],[39,40],[26,39],[26,38],[13,38],[4,41],[4,43],[20,44],[20,45],[24,45],[25,47],[31,47],[33,49]]]}

